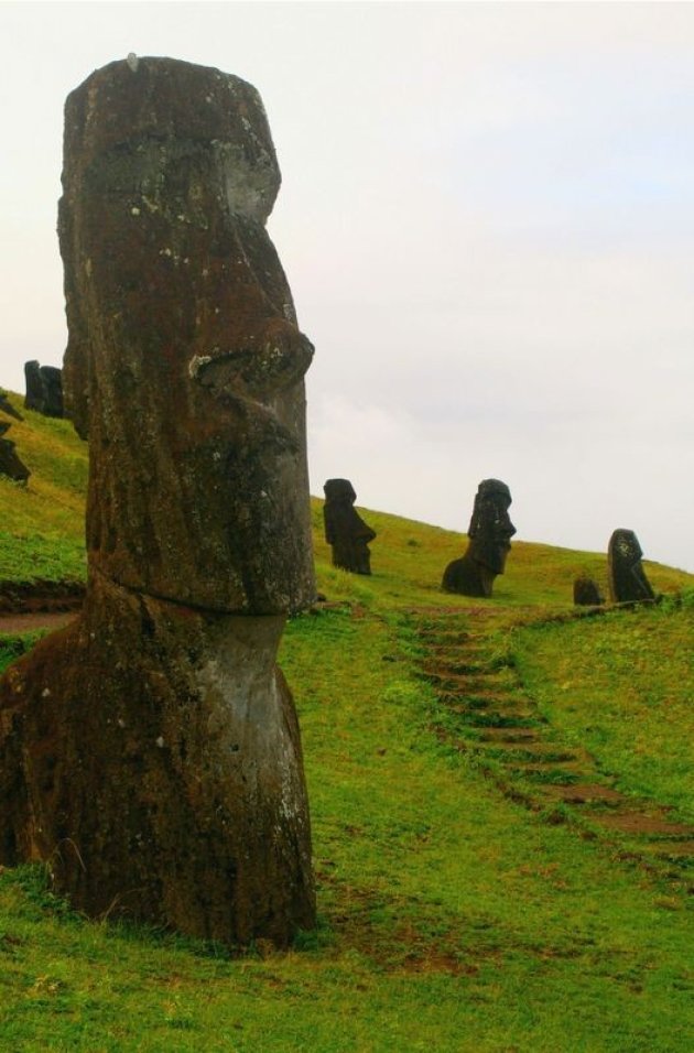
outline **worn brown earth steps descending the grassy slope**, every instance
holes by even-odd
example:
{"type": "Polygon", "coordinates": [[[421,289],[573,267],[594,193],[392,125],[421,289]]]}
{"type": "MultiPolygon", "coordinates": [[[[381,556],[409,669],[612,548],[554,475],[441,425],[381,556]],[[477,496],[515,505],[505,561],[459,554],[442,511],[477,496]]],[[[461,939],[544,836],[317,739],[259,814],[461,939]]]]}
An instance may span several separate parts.
{"type": "Polygon", "coordinates": [[[619,861],[629,861],[694,892],[694,826],[671,810],[626,795],[616,778],[567,742],[523,687],[502,645],[508,611],[412,611],[419,671],[438,701],[435,732],[475,763],[509,797],[567,823],[619,861]]]}

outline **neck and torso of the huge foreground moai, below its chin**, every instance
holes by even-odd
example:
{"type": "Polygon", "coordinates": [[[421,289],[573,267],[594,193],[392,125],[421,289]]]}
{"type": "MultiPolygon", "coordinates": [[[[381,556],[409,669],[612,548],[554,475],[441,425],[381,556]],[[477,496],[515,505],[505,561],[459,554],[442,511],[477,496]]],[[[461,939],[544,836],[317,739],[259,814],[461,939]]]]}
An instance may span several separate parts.
{"type": "Polygon", "coordinates": [[[311,926],[282,627],[95,577],[85,616],[3,684],[2,861],[50,861],[90,916],[242,943],[311,926]]]}

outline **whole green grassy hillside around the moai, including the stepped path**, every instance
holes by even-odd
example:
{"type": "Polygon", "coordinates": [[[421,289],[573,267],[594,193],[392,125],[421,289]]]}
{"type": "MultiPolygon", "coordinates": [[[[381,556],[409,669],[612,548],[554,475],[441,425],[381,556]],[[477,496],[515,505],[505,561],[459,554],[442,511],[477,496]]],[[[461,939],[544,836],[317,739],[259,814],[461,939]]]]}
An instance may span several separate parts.
{"type": "MultiPolygon", "coordinates": [[[[35,475],[0,491],[7,533],[65,544],[78,576],[84,448],[26,417],[26,448],[19,423],[10,437],[35,475]],[[64,538],[55,509],[31,514],[50,492],[64,538]]],[[[438,590],[459,534],[365,510],[362,578],[329,565],[313,515],[329,603],[290,622],[281,663],[317,931],[238,954],[87,922],[40,869],[6,870],[0,1049],[691,1049],[694,577],[647,564],[663,604],[574,617],[575,575],[604,585],[605,556],[518,542],[495,597],[469,601],[438,590]]],[[[35,576],[58,577],[52,560],[35,576]]]]}

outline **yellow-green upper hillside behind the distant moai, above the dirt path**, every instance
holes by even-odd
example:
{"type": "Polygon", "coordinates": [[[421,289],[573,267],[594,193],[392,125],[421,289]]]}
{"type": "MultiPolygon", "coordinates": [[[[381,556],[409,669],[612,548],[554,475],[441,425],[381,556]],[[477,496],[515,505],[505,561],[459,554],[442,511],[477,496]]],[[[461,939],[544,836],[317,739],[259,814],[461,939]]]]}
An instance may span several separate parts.
{"type": "MultiPolygon", "coordinates": [[[[44,417],[23,409],[23,398],[9,392],[9,400],[22,413],[7,433],[32,476],[20,486],[0,476],[0,580],[84,580],[84,495],[87,485],[87,446],[69,421],[44,417]]],[[[313,499],[314,543],[319,565],[329,563],[323,539],[323,502],[313,499]]],[[[378,532],[373,566],[379,589],[366,595],[377,603],[449,605],[438,585],[445,565],[465,550],[464,535],[437,526],[366,512],[378,532]]],[[[462,520],[465,510],[460,511],[462,520]]],[[[646,563],[657,588],[672,591],[691,576],[654,563],[646,563]]],[[[576,552],[551,545],[518,541],[505,577],[497,579],[496,598],[512,606],[571,604],[574,578],[582,572],[595,577],[607,591],[606,558],[600,553],[576,552]]],[[[694,578],[693,578],[694,580],[694,578]]],[[[340,575],[328,573],[325,583],[341,595],[350,595],[355,583],[340,585],[340,575]]],[[[358,588],[357,588],[358,591],[358,588]]]]}

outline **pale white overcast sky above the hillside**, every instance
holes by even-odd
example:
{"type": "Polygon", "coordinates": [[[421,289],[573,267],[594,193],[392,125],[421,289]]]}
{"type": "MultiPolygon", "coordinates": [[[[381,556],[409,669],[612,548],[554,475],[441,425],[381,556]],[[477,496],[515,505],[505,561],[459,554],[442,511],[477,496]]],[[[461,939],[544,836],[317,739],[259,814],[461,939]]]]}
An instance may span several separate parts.
{"type": "MultiPolygon", "coordinates": [[[[250,80],[316,346],[311,489],[694,571],[694,3],[0,2],[0,384],[61,365],[63,104],[140,55],[250,80]]],[[[373,550],[373,565],[377,567],[373,550]]]]}

